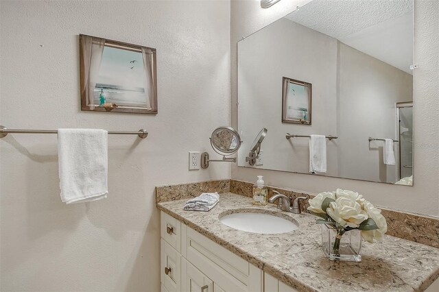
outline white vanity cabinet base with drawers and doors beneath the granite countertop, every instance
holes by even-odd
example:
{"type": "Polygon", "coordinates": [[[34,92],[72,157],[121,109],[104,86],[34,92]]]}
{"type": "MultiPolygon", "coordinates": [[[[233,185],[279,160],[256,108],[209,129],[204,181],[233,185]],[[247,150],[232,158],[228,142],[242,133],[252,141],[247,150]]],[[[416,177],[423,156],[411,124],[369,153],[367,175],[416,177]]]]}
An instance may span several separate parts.
{"type": "Polygon", "coordinates": [[[261,269],[161,212],[163,292],[295,291],[276,278],[265,276],[268,282],[264,283],[261,269]]]}

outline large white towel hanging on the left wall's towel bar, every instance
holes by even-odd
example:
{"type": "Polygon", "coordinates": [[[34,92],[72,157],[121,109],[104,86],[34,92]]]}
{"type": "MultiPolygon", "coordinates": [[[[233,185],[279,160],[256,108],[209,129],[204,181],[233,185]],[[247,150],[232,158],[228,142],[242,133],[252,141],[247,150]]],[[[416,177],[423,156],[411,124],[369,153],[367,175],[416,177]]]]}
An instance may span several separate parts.
{"type": "Polygon", "coordinates": [[[97,129],[58,129],[62,202],[90,202],[107,196],[107,135],[97,129]]]}

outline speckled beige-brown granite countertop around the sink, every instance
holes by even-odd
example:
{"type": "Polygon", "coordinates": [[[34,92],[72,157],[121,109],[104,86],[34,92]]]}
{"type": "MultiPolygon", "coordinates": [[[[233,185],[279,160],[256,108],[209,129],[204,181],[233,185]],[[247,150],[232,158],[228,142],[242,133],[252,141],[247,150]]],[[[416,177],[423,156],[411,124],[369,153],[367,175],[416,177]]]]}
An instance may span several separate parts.
{"type": "Polygon", "coordinates": [[[299,291],[424,291],[439,277],[439,249],[385,235],[381,243],[363,243],[361,263],[331,261],[321,245],[316,217],[255,206],[250,197],[220,195],[209,212],[185,211],[187,199],[161,202],[158,209],[299,291]],[[256,234],[219,222],[232,212],[268,212],[291,217],[298,230],[256,234]]]}

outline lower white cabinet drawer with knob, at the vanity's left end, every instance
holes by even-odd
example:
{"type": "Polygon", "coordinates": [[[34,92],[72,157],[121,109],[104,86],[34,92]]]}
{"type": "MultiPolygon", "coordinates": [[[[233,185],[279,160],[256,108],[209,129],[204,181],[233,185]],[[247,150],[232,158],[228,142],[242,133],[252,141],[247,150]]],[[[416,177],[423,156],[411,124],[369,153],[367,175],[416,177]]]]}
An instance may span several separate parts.
{"type": "Polygon", "coordinates": [[[161,283],[168,292],[180,291],[181,256],[163,239],[161,246],[161,283]]]}

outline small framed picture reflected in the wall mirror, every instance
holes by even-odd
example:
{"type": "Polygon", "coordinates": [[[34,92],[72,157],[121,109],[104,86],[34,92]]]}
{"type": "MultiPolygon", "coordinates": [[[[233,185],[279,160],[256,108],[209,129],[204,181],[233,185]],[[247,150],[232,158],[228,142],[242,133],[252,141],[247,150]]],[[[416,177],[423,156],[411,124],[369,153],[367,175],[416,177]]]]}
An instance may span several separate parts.
{"type": "Polygon", "coordinates": [[[283,77],[282,123],[311,125],[312,85],[283,77]]]}

